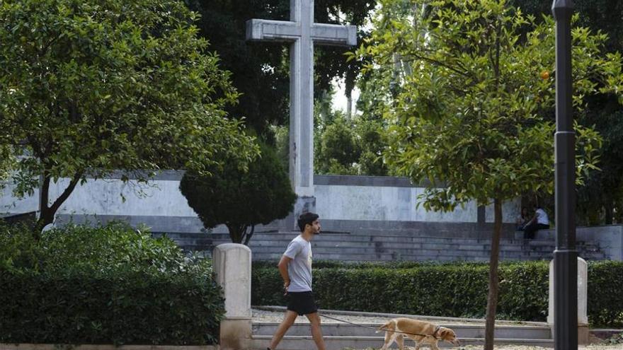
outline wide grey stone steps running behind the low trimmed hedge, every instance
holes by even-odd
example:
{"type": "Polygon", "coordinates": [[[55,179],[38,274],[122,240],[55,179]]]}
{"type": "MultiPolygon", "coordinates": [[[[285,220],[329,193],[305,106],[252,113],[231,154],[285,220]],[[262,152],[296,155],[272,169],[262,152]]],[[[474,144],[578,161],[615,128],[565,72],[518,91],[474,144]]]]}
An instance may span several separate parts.
{"type": "MultiPolygon", "coordinates": [[[[249,247],[255,260],[278,260],[285,247],[299,233],[292,231],[256,232],[249,247]]],[[[160,236],[162,233],[154,233],[160,236]]],[[[216,245],[229,243],[227,233],[166,234],[185,250],[210,251],[216,245]]],[[[520,235],[518,235],[520,237],[520,235]]],[[[404,233],[352,234],[324,232],[311,241],[314,259],[343,261],[488,261],[489,238],[452,238],[404,233]]],[[[595,243],[578,241],[578,252],[587,260],[607,259],[595,243]]],[[[525,241],[502,239],[503,260],[551,259],[555,249],[551,238],[525,241]]]]}

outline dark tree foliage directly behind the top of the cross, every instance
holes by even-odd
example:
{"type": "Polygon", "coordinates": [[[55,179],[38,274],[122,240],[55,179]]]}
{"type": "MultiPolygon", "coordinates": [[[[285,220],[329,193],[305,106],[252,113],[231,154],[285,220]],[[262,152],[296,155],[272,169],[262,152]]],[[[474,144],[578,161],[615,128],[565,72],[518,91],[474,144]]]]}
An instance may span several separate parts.
{"type": "MultiPolygon", "coordinates": [[[[187,0],[201,14],[200,35],[210,41],[232,71],[232,82],[242,94],[232,115],[246,117],[249,126],[270,140],[268,128],[287,124],[290,95],[287,45],[245,40],[245,22],[251,18],[290,19],[290,0],[187,0]]],[[[316,0],[316,22],[362,25],[376,5],[374,0],[316,0]]],[[[359,42],[365,33],[360,27],[359,42]]],[[[346,62],[345,47],[316,47],[316,98],[331,90],[333,78],[345,78],[350,94],[360,63],[346,62]]]]}

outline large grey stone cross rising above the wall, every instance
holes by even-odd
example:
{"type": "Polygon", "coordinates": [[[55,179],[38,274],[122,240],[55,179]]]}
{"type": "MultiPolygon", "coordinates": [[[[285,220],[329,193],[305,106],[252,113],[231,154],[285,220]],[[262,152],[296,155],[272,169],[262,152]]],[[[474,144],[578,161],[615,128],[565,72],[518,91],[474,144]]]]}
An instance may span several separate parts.
{"type": "Polygon", "coordinates": [[[290,42],[290,181],[314,197],[314,43],[356,45],[355,25],[314,23],[314,0],[290,0],[290,21],[252,19],[246,39],[290,42]]]}

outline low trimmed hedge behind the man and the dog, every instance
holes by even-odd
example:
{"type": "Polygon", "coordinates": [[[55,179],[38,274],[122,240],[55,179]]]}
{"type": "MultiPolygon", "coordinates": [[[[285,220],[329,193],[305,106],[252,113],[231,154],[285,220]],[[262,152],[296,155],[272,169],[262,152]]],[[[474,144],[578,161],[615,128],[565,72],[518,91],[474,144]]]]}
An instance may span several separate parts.
{"type": "MultiPolygon", "coordinates": [[[[484,317],[488,264],[314,262],[314,294],[321,308],[447,317],[484,317]]],[[[591,262],[590,321],[623,324],[622,262],[591,262]]],[[[548,262],[500,266],[498,318],[544,321],[549,293],[548,262]]],[[[253,264],[253,305],[285,305],[275,262],[253,264]]]]}

